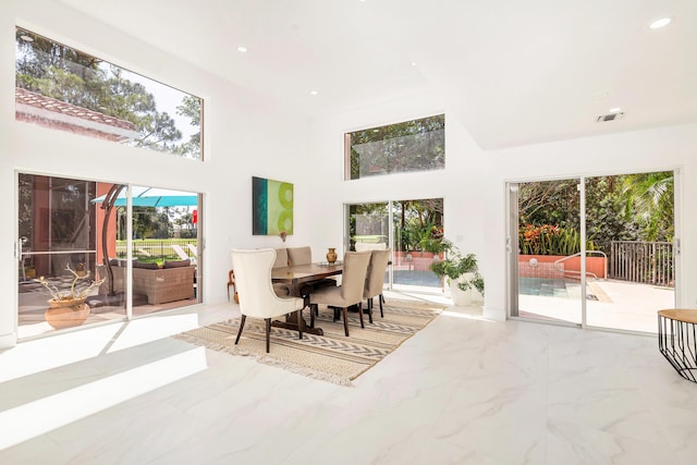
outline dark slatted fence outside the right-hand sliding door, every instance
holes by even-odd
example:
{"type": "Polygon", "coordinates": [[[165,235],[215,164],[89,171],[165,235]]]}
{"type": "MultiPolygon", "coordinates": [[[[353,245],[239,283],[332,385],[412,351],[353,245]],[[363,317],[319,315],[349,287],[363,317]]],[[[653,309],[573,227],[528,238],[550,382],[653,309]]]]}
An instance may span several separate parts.
{"type": "Polygon", "coordinates": [[[673,287],[673,243],[612,241],[609,276],[616,280],[673,287]]]}

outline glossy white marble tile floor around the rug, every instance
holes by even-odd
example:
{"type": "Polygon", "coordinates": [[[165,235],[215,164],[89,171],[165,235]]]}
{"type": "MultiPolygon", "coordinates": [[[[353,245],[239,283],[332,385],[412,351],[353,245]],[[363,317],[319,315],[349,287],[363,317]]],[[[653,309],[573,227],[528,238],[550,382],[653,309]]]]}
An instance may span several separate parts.
{"type": "Polygon", "coordinates": [[[697,384],[651,336],[450,307],[352,388],[169,338],[236,311],[1,352],[0,463],[697,463],[697,384]]]}

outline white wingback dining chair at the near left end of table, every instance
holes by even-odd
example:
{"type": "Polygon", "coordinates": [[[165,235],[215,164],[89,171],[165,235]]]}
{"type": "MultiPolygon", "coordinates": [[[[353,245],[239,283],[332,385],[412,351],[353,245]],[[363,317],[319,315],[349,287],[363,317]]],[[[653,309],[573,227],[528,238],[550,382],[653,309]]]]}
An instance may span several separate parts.
{"type": "Polygon", "coordinates": [[[266,322],[266,352],[271,341],[271,318],[297,314],[299,338],[303,339],[302,310],[305,303],[298,297],[282,298],[276,295],[271,285],[271,268],[276,261],[276,250],[260,248],[254,250],[233,249],[232,266],[235,270],[235,284],[240,295],[240,331],[235,344],[240,342],[242,329],[247,317],[262,318],[266,322]]]}

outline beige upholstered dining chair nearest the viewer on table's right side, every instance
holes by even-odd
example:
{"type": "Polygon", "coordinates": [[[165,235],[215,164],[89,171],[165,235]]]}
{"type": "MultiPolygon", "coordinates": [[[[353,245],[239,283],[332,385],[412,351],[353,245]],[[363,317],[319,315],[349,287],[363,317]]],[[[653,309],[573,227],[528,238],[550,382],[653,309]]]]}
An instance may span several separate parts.
{"type": "Polygon", "coordinates": [[[369,262],[370,252],[346,252],[344,255],[341,285],[317,289],[309,294],[310,327],[315,326],[315,315],[318,310],[318,305],[323,304],[342,310],[344,333],[346,335],[348,335],[346,311],[352,305],[357,305],[360,328],[365,328],[363,322],[363,291],[365,289],[369,262]]]}

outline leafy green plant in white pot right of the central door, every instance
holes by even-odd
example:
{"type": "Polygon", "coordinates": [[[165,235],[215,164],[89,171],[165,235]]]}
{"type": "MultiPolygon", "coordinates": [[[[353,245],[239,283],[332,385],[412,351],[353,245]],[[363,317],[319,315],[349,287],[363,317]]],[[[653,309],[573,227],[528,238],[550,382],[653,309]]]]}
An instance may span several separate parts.
{"type": "Polygon", "coordinates": [[[430,270],[447,278],[450,283],[451,296],[456,306],[469,305],[473,301],[484,297],[484,278],[479,274],[479,265],[475,254],[463,255],[450,241],[443,240],[445,258],[433,261],[430,270]]]}

